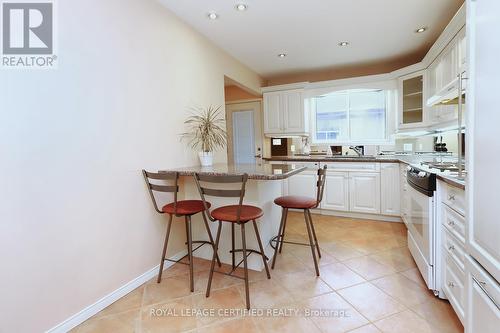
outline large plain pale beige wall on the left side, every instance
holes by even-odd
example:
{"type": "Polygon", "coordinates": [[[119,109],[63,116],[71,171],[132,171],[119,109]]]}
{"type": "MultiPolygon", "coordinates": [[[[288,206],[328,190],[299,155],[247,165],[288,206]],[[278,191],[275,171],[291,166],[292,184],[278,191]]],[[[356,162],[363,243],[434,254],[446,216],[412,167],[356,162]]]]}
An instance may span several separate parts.
{"type": "Polygon", "coordinates": [[[261,86],[157,1],[56,16],[59,68],[0,74],[1,332],[45,331],[157,265],[165,218],[140,170],[198,163],[182,122],[224,105],[224,75],[261,86]]]}

